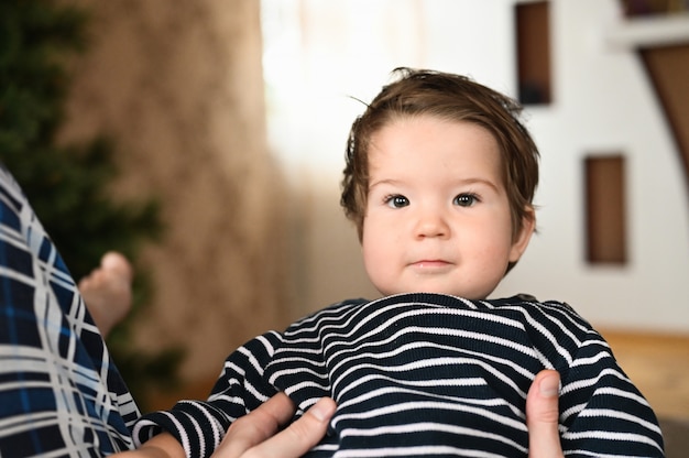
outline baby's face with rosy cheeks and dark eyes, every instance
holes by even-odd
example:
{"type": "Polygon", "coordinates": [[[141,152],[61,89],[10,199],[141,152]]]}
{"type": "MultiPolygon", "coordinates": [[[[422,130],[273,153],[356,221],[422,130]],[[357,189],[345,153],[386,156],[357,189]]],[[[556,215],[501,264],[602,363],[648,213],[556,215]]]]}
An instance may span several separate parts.
{"type": "Polygon", "coordinates": [[[485,298],[533,231],[513,239],[501,154],[473,123],[420,116],[372,137],[362,250],[384,295],[485,298]]]}

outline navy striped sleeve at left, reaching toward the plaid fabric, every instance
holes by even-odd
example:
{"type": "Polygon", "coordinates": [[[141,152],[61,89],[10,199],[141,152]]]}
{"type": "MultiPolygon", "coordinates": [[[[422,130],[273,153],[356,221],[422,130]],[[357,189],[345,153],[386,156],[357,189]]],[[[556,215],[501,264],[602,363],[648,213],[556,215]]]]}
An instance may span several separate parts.
{"type": "Polygon", "coordinates": [[[232,422],[259,407],[276,393],[264,381],[264,369],[282,337],[266,332],[232,352],[207,401],[181,401],[169,411],[144,415],[133,428],[134,444],[167,432],[175,436],[187,457],[209,457],[232,422]]]}

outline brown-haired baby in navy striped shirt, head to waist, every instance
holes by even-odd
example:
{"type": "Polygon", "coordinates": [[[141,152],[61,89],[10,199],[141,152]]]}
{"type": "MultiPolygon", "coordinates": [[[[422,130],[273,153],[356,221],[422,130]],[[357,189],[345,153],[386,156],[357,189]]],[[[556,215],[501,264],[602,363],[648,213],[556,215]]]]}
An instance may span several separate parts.
{"type": "Polygon", "coordinates": [[[308,456],[527,456],[526,393],[555,369],[565,455],[663,456],[648,403],[570,306],[488,299],[536,227],[538,152],[521,107],[462,76],[395,75],[352,126],[341,198],[384,297],[252,339],[206,402],[145,415],[134,441],[166,432],[209,456],[284,392],[297,416],[324,396],[338,404],[308,456]]]}

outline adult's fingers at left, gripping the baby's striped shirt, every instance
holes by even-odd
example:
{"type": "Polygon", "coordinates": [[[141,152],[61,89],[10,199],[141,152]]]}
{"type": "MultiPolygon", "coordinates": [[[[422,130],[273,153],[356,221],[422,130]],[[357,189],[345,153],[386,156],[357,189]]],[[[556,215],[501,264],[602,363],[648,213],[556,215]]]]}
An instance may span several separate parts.
{"type": "Polygon", "coordinates": [[[289,397],[277,393],[259,408],[237,419],[216,449],[217,458],[300,457],[320,441],[328,429],[336,404],[324,397],[302,418],[277,433],[292,419],[296,408],[289,397]]]}

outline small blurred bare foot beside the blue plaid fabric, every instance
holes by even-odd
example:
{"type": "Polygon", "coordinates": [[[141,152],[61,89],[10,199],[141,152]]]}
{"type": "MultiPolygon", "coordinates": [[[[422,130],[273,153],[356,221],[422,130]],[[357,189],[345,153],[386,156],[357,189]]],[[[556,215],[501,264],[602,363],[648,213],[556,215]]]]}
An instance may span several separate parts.
{"type": "Polygon", "coordinates": [[[127,258],[109,251],[100,266],[79,281],[79,292],[103,338],[131,309],[133,275],[127,258]]]}

